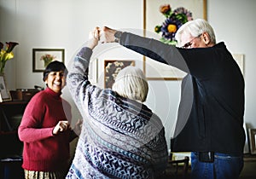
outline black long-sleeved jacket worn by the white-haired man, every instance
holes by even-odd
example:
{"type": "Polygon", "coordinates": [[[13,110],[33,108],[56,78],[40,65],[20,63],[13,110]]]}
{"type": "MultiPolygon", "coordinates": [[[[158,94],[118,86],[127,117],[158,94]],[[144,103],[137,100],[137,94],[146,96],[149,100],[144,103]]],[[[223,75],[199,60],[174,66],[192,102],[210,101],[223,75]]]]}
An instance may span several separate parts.
{"type": "Polygon", "coordinates": [[[120,44],[188,73],[182,82],[173,152],[243,153],[244,79],[224,43],[179,49],[124,32],[120,44]]]}

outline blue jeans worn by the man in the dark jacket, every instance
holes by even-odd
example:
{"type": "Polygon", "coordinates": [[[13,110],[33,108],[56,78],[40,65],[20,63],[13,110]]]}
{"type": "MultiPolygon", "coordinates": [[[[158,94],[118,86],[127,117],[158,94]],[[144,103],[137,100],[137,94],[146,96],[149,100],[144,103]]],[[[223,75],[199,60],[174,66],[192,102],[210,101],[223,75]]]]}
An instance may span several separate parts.
{"type": "Polygon", "coordinates": [[[243,167],[243,157],[214,153],[214,162],[204,163],[198,153],[191,153],[191,179],[237,179],[243,167]]]}

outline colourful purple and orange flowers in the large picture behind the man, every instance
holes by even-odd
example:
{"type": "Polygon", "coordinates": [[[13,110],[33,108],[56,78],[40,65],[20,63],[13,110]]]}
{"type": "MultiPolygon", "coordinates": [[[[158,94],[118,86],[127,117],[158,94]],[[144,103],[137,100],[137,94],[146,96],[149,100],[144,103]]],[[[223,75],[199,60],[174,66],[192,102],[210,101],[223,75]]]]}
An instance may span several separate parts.
{"type": "Polygon", "coordinates": [[[155,26],[154,32],[161,32],[160,41],[163,43],[176,45],[175,34],[180,26],[189,20],[193,20],[192,13],[183,7],[172,11],[170,4],[161,5],[160,13],[165,15],[166,20],[161,26],[155,26]]]}

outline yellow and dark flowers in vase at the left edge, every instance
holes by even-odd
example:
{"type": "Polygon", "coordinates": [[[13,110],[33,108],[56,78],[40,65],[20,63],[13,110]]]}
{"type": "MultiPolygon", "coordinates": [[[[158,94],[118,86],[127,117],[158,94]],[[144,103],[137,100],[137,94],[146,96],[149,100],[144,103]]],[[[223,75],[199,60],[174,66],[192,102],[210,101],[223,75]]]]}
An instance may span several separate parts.
{"type": "Polygon", "coordinates": [[[15,49],[15,46],[19,43],[9,42],[6,43],[6,48],[3,49],[3,43],[0,42],[0,73],[4,72],[4,66],[6,61],[13,59],[15,57],[14,53],[12,52],[15,49]]]}

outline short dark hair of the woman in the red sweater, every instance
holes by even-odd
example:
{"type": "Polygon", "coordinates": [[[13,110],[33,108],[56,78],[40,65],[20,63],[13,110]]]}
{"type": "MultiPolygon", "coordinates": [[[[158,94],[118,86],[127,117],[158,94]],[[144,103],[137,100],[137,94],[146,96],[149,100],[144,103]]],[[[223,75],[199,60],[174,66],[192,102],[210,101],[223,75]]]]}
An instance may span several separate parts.
{"type": "Polygon", "coordinates": [[[67,68],[61,61],[52,61],[46,66],[44,70],[43,80],[45,81],[48,77],[49,72],[60,72],[63,71],[65,76],[67,76],[67,68]]]}

